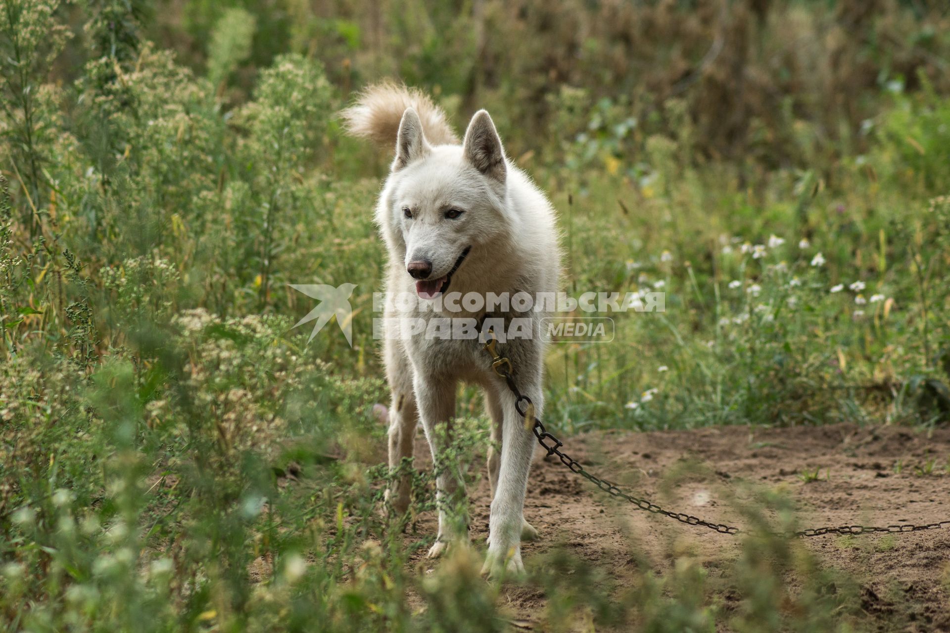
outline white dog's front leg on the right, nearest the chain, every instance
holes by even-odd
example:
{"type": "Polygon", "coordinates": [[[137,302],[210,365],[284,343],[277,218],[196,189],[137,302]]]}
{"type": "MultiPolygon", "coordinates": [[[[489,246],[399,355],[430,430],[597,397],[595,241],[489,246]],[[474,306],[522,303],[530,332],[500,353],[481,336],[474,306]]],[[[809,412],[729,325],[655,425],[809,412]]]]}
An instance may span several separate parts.
{"type": "MultiPolygon", "coordinates": [[[[530,428],[525,428],[524,419],[515,407],[514,397],[498,389],[502,402],[502,463],[499,468],[498,485],[491,501],[491,518],[488,522],[488,555],[483,573],[499,575],[505,568],[510,572],[524,571],[522,563],[522,531],[524,525],[524,494],[527,490],[528,471],[534,455],[535,439],[530,428]]],[[[540,380],[522,386],[525,396],[535,404],[535,415],[540,417],[543,396],[540,380]]]]}

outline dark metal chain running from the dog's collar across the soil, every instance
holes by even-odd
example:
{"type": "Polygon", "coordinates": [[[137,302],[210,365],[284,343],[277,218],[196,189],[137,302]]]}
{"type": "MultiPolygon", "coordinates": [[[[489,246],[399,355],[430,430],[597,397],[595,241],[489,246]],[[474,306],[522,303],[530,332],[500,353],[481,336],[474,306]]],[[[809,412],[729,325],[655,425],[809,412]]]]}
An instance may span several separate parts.
{"type": "MultiPolygon", "coordinates": [[[[634,505],[637,510],[645,510],[653,514],[662,514],[664,516],[669,516],[672,519],[679,521],[680,523],[685,523],[686,525],[691,526],[700,526],[707,528],[712,531],[719,532],[720,534],[730,534],[734,536],[739,533],[748,533],[748,531],[741,530],[734,526],[729,526],[724,523],[712,523],[712,521],[706,521],[699,518],[698,516],[693,516],[693,514],[687,514],[686,512],[672,512],[665,510],[660,505],[650,501],[649,499],[643,499],[633,494],[624,493],[619,489],[617,483],[604,479],[602,477],[592,475],[584,470],[584,467],[580,465],[580,462],[572,456],[569,456],[567,453],[561,451],[561,446],[563,442],[560,439],[556,438],[554,435],[549,433],[541,419],[538,419],[534,416],[534,402],[530,398],[525,396],[519,389],[518,384],[515,382],[514,377],[512,376],[513,366],[511,361],[501,354],[499,354],[496,344],[497,339],[495,338],[494,332],[491,328],[484,333],[485,338],[487,339],[484,347],[485,351],[491,354],[492,357],[492,369],[495,370],[495,373],[504,378],[504,382],[507,383],[508,389],[514,394],[515,398],[515,409],[518,410],[518,414],[524,419],[525,425],[531,421],[528,419],[528,415],[531,415],[531,418],[534,420],[534,424],[531,427],[532,432],[534,433],[535,438],[538,439],[538,443],[542,445],[542,448],[547,453],[548,456],[558,456],[561,460],[561,463],[568,468],[572,473],[580,475],[597,486],[600,490],[605,493],[610,494],[611,496],[616,496],[621,499],[624,499],[634,505]]],[[[902,524],[902,525],[889,525],[889,526],[862,526],[862,525],[853,525],[853,526],[826,526],[823,528],[811,528],[808,530],[799,530],[799,531],[786,531],[786,532],[767,532],[771,536],[782,536],[785,538],[800,538],[805,536],[824,536],[825,534],[870,534],[875,532],[888,532],[888,533],[902,533],[902,532],[912,532],[912,531],[923,531],[923,530],[938,530],[950,526],[950,519],[945,521],[939,521],[937,523],[926,523],[922,525],[914,524],[902,524]]]]}

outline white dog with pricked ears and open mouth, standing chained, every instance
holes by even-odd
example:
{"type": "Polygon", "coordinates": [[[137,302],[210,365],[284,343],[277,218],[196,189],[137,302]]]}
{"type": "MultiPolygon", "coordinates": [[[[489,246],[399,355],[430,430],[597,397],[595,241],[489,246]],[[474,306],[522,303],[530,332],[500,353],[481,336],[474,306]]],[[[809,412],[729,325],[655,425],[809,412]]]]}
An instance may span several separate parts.
{"type": "MultiPolygon", "coordinates": [[[[366,90],[343,113],[348,130],[389,146],[395,144],[390,176],[376,205],[375,220],[389,250],[388,293],[413,293],[416,305],[388,307],[386,322],[415,322],[438,317],[485,317],[485,310],[445,311],[435,301],[447,292],[513,296],[558,290],[561,250],[555,214],[545,195],[504,155],[502,140],[485,110],[468,123],[462,144],[445,114],[416,90],[383,84],[366,90]]],[[[540,311],[493,311],[493,318],[528,319],[532,336],[508,339],[500,345],[514,367],[514,379],[542,414],[544,358],[540,311]]],[[[428,331],[428,330],[427,330],[428,331]]],[[[488,477],[493,500],[489,521],[485,571],[523,571],[521,540],[537,535],[523,518],[524,493],[535,438],[525,428],[515,397],[494,373],[491,359],[477,340],[452,340],[418,332],[384,344],[392,392],[390,469],[411,459],[416,422],[422,420],[429,447],[438,459],[451,437],[455,396],[460,381],[474,382],[485,391],[492,420],[493,444],[501,456],[488,452],[488,477]],[[446,425],[447,433],[436,433],[446,425]]],[[[410,476],[403,475],[387,492],[391,507],[406,512],[410,476]]],[[[428,551],[436,557],[453,536],[447,500],[464,498],[460,473],[437,477],[439,533],[428,551]]],[[[460,531],[466,529],[460,529],[460,531]]]]}

